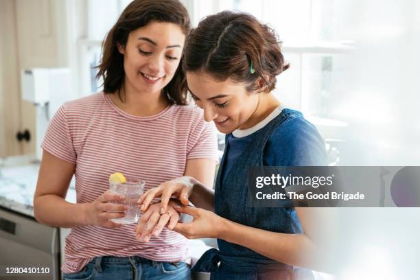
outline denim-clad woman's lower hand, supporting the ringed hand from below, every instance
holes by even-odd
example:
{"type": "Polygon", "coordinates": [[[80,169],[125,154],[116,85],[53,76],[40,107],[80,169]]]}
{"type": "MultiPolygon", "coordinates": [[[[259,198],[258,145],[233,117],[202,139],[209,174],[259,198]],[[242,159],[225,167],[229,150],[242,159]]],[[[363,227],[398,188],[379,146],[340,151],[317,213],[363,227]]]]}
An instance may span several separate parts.
{"type": "Polygon", "coordinates": [[[176,211],[194,217],[193,222],[178,222],[174,227],[174,231],[184,235],[188,239],[220,237],[220,232],[227,221],[211,211],[196,207],[183,206],[176,209],[176,211]]]}

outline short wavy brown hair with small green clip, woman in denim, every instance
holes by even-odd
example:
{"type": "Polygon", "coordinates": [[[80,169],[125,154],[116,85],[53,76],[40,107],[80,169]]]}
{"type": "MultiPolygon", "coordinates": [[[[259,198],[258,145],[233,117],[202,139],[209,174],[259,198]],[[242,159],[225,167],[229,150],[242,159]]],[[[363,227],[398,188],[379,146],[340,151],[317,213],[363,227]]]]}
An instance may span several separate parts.
{"type": "Polygon", "coordinates": [[[220,12],[207,16],[191,30],[184,49],[183,69],[205,71],[222,81],[232,78],[248,83],[248,91],[270,92],[275,88],[276,76],[289,67],[280,44],[275,31],[254,16],[220,12]],[[257,85],[260,78],[264,81],[262,86],[257,85]]]}

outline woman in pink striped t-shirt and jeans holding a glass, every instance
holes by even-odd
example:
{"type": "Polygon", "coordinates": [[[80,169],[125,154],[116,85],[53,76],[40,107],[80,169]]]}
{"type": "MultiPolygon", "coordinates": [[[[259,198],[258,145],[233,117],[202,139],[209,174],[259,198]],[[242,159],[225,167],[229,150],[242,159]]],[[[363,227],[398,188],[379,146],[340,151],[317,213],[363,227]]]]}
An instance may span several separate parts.
{"type": "MultiPolygon", "coordinates": [[[[65,279],[189,278],[185,237],[170,231],[175,205],[162,215],[170,229],[143,242],[135,224],[110,221],[124,216],[124,206],[108,191],[114,172],[145,180],[145,189],[183,175],[213,184],[215,130],[185,106],[180,60],[189,28],[178,0],[132,1],[104,40],[104,91],[65,103],[51,120],[34,213],[43,224],[71,228],[65,279]],[[65,201],[73,175],[75,204],[65,201]]],[[[159,207],[143,215],[160,219],[159,207]]]]}

